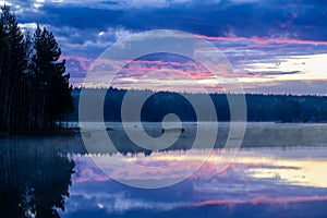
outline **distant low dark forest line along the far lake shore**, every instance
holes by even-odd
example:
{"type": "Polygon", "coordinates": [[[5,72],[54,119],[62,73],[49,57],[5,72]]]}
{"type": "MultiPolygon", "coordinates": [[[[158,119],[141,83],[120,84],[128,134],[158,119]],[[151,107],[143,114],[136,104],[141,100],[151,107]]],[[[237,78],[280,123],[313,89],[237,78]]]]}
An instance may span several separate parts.
{"type": "MultiPolygon", "coordinates": [[[[73,96],[78,99],[81,89],[75,88],[73,96]]],[[[87,88],[84,92],[104,92],[97,88],[87,88]]],[[[105,121],[120,122],[122,100],[126,89],[109,88],[104,102],[105,121]]],[[[141,120],[146,122],[160,122],[168,113],[175,113],[181,121],[197,121],[195,111],[189,100],[204,106],[204,94],[179,94],[173,92],[129,90],[133,92],[133,100],[145,96],[152,96],[142,108],[141,120]],[[146,94],[146,95],[147,95],[146,94]]],[[[231,96],[238,94],[230,94],[231,96]]],[[[218,121],[230,121],[230,107],[226,94],[210,94],[218,121]]],[[[327,122],[327,97],[326,96],[295,96],[295,95],[264,95],[246,94],[247,121],[250,122],[327,122]]],[[[78,101],[75,101],[77,108],[78,101]]],[[[77,121],[77,110],[69,120],[77,121]]],[[[92,118],[89,118],[92,121],[92,118]]],[[[210,121],[205,118],[202,121],[210,121]]]]}

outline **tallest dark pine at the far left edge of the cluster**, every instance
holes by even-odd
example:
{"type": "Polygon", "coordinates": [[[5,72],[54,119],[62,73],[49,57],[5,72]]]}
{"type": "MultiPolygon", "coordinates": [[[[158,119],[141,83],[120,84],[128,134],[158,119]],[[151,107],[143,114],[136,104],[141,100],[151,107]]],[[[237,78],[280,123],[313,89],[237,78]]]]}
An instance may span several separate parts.
{"type": "Polygon", "coordinates": [[[21,126],[21,106],[23,73],[26,70],[26,53],[24,35],[20,29],[15,15],[10,12],[10,8],[4,5],[1,14],[1,35],[5,40],[4,52],[1,52],[1,80],[3,86],[2,118],[9,133],[15,133],[21,126]]]}

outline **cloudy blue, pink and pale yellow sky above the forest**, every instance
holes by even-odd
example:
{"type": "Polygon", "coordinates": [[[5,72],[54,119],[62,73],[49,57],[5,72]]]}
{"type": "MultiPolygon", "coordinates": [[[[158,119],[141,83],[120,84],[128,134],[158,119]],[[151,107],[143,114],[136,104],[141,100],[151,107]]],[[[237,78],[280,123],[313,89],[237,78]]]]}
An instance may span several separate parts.
{"type": "MultiPolygon", "coordinates": [[[[53,32],[74,86],[85,85],[92,65],[116,43],[145,31],[175,29],[215,45],[246,93],[327,94],[325,0],[0,0],[3,3],[11,5],[24,31],[40,24],[53,32]]],[[[92,85],[129,88],[143,80],[143,88],[152,83],[196,92],[196,80],[220,92],[216,77],[198,65],[169,53],[140,57],[114,82],[92,85]],[[153,76],[144,81],[149,72],[153,76]]]]}

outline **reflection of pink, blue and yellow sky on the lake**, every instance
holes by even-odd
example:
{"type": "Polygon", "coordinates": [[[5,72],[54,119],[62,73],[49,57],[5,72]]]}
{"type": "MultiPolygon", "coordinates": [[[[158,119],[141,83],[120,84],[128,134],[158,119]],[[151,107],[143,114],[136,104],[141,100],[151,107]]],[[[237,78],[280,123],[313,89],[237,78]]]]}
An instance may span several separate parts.
{"type": "Polygon", "coordinates": [[[183,182],[159,190],[126,186],[105,174],[93,162],[111,169],[125,180],[166,180],[202,161],[204,150],[137,155],[71,155],[76,162],[71,197],[63,217],[326,217],[326,147],[242,149],[227,170],[217,173],[221,150],[183,182]],[[135,172],[118,168],[124,161],[142,166],[167,166],[135,172]],[[179,161],[180,168],[169,168],[179,161]]]}

